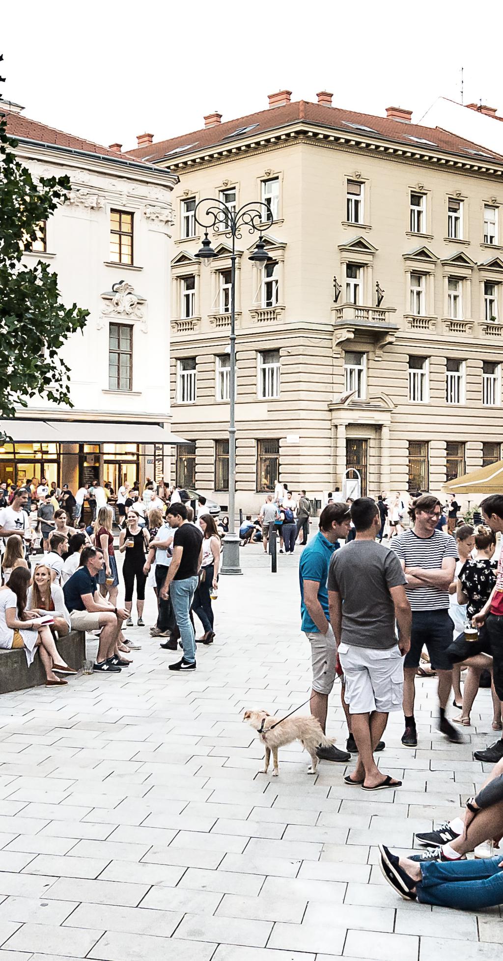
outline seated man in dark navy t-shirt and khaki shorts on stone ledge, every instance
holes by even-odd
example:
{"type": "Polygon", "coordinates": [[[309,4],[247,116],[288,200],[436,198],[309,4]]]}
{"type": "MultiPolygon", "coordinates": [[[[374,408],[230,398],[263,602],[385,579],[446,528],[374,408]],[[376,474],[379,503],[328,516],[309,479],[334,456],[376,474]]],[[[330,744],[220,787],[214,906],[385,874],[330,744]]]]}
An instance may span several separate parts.
{"type": "Polygon", "coordinates": [[[128,612],[114,607],[98,590],[97,577],[103,567],[103,551],[84,547],[81,566],[63,584],[64,603],[74,630],[98,630],[100,644],[93,670],[119,674],[131,661],[119,656],[119,636],[128,612]]]}

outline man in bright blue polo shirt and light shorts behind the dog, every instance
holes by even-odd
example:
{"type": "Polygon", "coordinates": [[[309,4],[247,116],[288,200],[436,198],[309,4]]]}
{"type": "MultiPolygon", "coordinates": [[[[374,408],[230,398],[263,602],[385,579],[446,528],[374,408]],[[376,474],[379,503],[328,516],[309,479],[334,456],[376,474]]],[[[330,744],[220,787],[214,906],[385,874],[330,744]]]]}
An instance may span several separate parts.
{"type": "MultiPolygon", "coordinates": [[[[300,555],[300,611],[302,630],[311,642],[313,661],[313,689],[311,714],[326,725],[328,695],[330,694],[337,666],[335,637],[328,619],[328,591],[326,579],[330,557],[339,547],[338,538],[347,537],[349,530],[349,507],[347,504],[328,504],[320,514],[320,530],[300,555]]],[[[318,756],[325,761],[344,761],[350,754],[338,748],[318,748],[318,756]]]]}

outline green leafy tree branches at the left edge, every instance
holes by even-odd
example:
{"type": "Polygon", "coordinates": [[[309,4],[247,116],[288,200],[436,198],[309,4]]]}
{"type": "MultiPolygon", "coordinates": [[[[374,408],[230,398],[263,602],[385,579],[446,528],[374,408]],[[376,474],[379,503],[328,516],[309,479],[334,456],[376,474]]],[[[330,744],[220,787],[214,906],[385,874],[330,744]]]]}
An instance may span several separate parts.
{"type": "Polygon", "coordinates": [[[27,407],[37,395],[72,407],[60,348],[83,330],[89,311],[64,306],[58,276],[46,263],[21,262],[36,229],[64,203],[70,180],[34,180],[16,159],[17,140],[8,136],[1,108],[0,96],[0,415],[13,417],[16,406],[27,407]]]}

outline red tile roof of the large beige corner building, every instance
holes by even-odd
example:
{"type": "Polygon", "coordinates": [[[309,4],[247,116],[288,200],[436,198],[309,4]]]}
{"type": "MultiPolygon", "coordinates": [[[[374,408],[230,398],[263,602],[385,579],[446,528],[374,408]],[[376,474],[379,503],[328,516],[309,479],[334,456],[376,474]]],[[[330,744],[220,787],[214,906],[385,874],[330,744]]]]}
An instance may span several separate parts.
{"type": "MultiPolygon", "coordinates": [[[[271,132],[275,128],[292,125],[296,122],[306,122],[323,127],[331,127],[346,133],[353,134],[355,138],[384,137],[387,140],[394,140],[397,143],[407,145],[409,148],[417,150],[421,148],[413,138],[426,140],[422,144],[422,149],[427,147],[437,148],[437,150],[448,154],[465,154],[473,161],[477,161],[478,152],[484,154],[488,159],[493,158],[498,162],[503,162],[503,157],[488,150],[486,147],[470,140],[465,140],[462,136],[450,134],[440,127],[420,127],[419,124],[401,123],[399,120],[392,120],[387,117],[377,117],[371,113],[357,113],[355,111],[343,111],[337,107],[325,107],[320,104],[312,104],[305,100],[285,104],[283,107],[269,108],[258,113],[249,113],[247,116],[238,117],[235,120],[228,120],[226,123],[217,124],[214,127],[207,127],[197,130],[192,134],[175,136],[169,140],[159,140],[145,147],[139,147],[129,151],[130,156],[155,162],[170,155],[173,162],[183,153],[200,153],[211,147],[223,146],[232,142],[233,137],[228,140],[228,136],[233,134],[238,128],[252,126],[254,129],[248,134],[243,132],[242,136],[255,138],[271,132]],[[368,130],[358,131],[351,128],[350,124],[358,124],[368,130]],[[178,149],[185,148],[185,150],[178,149]],[[176,154],[171,151],[177,150],[176,154]]],[[[236,136],[235,139],[240,139],[236,136]]],[[[478,158],[481,160],[481,158],[478,158]]]]}

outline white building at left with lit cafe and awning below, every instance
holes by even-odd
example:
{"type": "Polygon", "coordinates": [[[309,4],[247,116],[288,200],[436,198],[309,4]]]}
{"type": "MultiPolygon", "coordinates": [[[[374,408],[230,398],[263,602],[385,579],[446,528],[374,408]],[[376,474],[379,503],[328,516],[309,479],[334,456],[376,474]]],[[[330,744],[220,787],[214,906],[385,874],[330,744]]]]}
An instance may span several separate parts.
{"type": "Polygon", "coordinates": [[[124,480],[162,475],[178,178],[122,154],[120,144],[102,147],[28,119],[16,104],[1,107],[33,176],[66,174],[72,185],[25,259],[46,261],[63,303],[90,316],[62,351],[74,407],[36,398],[15,421],[4,421],[14,443],[0,448],[0,480],[44,475],[75,490],[99,474],[117,490],[124,480]]]}

